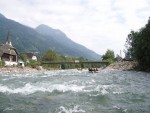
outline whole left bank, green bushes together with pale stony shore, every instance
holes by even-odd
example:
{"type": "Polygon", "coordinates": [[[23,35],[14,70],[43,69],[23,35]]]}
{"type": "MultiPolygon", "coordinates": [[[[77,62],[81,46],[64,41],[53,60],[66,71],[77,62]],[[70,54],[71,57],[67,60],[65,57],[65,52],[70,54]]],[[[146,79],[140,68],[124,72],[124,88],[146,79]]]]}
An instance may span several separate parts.
{"type": "MultiPolygon", "coordinates": [[[[75,60],[79,61],[87,61],[87,59],[84,59],[82,57],[76,58],[76,57],[65,57],[62,55],[57,54],[53,50],[48,50],[45,52],[45,54],[38,59],[38,61],[34,61],[31,59],[28,59],[26,54],[21,54],[20,59],[25,63],[25,67],[22,66],[11,66],[11,67],[5,67],[5,62],[0,61],[0,72],[35,72],[35,71],[46,71],[46,70],[55,70],[60,69],[59,64],[43,64],[42,62],[50,61],[50,62],[74,62],[75,60]]],[[[73,69],[73,68],[87,68],[88,64],[64,64],[61,66],[62,69],[73,69]]]]}

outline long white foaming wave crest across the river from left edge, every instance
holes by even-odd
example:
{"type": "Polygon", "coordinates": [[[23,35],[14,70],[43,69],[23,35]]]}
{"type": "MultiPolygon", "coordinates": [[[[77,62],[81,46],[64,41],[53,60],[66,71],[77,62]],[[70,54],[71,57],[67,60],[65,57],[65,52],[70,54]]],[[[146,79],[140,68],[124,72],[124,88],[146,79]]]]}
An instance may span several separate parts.
{"type": "Polygon", "coordinates": [[[28,94],[32,94],[35,92],[74,92],[74,93],[78,93],[78,92],[82,92],[82,93],[90,93],[90,92],[97,92],[98,94],[101,95],[106,95],[108,93],[110,93],[111,89],[114,89],[113,93],[114,94],[120,94],[121,92],[117,90],[117,88],[115,88],[113,85],[95,85],[95,81],[91,80],[89,81],[87,84],[87,82],[85,82],[84,84],[78,84],[79,80],[72,80],[72,81],[68,81],[68,82],[64,82],[63,84],[52,84],[52,83],[26,83],[24,84],[24,86],[22,87],[9,87],[3,84],[0,84],[0,92],[3,93],[19,93],[19,94],[24,94],[24,95],[28,95],[28,94]]]}

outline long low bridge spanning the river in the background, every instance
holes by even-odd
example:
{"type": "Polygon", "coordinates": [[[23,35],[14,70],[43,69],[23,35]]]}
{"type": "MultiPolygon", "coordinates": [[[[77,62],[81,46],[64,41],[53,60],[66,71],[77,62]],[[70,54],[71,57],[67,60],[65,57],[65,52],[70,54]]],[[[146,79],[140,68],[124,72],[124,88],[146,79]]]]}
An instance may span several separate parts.
{"type": "Polygon", "coordinates": [[[50,64],[50,65],[60,65],[60,68],[62,69],[63,65],[65,64],[70,64],[70,65],[80,65],[80,67],[82,67],[82,65],[86,64],[88,65],[88,67],[92,67],[92,66],[105,66],[108,65],[107,61],[79,61],[79,60],[75,60],[75,61],[43,61],[42,64],[50,64]]]}

